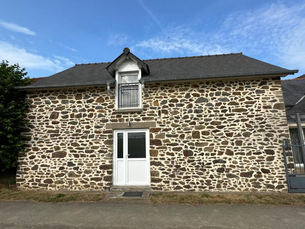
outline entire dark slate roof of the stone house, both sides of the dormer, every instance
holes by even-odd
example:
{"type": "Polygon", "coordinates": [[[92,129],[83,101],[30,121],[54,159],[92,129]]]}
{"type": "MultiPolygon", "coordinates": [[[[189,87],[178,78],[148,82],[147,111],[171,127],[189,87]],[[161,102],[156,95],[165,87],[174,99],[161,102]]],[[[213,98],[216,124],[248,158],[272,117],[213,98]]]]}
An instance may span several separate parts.
{"type": "MultiPolygon", "coordinates": [[[[251,58],[242,53],[150,59],[143,60],[143,62],[149,66],[150,74],[142,76],[142,79],[160,79],[160,81],[162,81],[161,79],[168,77],[207,76],[207,78],[213,78],[213,75],[226,74],[236,74],[238,77],[242,76],[240,75],[242,73],[260,74],[268,72],[268,75],[272,75],[272,72],[274,72],[274,74],[275,72],[277,72],[276,74],[280,74],[280,71],[284,71],[284,74],[286,74],[286,71],[290,71],[251,58]]],[[[106,67],[109,64],[110,62],[76,64],[74,67],[67,70],[43,78],[26,87],[17,87],[17,89],[33,89],[33,86],[35,86],[35,88],[50,88],[54,85],[57,85],[58,87],[68,87],[76,84],[105,84],[106,82],[115,80],[106,70],[106,67]]],[[[297,70],[292,71],[287,72],[286,75],[297,72],[297,70]]]]}

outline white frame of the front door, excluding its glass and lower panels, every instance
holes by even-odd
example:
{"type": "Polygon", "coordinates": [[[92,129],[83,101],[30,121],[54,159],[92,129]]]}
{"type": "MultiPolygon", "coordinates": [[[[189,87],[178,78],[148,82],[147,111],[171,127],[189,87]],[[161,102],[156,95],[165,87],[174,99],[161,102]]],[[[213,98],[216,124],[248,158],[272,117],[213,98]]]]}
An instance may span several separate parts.
{"type": "Polygon", "coordinates": [[[149,155],[149,129],[115,129],[113,130],[113,185],[119,185],[119,186],[147,186],[150,185],[150,155],[149,155]],[[127,149],[128,149],[128,141],[127,139],[127,134],[131,132],[145,132],[145,143],[146,143],[146,158],[128,158],[127,154],[127,149]],[[123,158],[117,158],[117,133],[124,133],[124,147],[123,147],[123,158]],[[127,171],[128,171],[128,161],[144,161],[146,160],[146,183],[133,183],[130,184],[128,183],[127,179],[127,171]],[[117,161],[122,161],[124,165],[124,171],[125,171],[125,176],[124,176],[124,181],[119,183],[117,182],[117,161]]]}

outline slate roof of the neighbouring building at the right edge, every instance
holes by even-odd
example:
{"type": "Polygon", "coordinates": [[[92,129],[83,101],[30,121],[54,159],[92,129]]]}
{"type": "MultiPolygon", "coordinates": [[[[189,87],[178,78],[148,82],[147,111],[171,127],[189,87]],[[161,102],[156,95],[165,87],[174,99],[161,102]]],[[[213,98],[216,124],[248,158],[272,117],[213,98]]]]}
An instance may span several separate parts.
{"type": "Polygon", "coordinates": [[[282,80],[281,84],[286,106],[295,105],[305,95],[305,78],[282,80]]]}

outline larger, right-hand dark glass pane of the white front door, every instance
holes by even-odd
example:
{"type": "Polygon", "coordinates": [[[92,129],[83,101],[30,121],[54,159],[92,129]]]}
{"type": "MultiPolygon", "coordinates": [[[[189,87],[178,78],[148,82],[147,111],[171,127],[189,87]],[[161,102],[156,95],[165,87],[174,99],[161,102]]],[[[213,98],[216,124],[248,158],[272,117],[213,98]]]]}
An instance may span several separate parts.
{"type": "Polygon", "coordinates": [[[128,133],[128,158],[146,158],[145,132],[128,133]]]}

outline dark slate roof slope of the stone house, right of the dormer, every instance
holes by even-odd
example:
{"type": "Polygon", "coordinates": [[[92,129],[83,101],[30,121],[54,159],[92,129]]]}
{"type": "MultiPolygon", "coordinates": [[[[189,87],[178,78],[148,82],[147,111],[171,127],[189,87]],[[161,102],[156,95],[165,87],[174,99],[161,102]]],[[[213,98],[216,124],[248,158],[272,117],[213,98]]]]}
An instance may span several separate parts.
{"type": "Polygon", "coordinates": [[[242,53],[154,59],[144,62],[149,66],[150,75],[142,79],[288,70],[242,53]]]}

